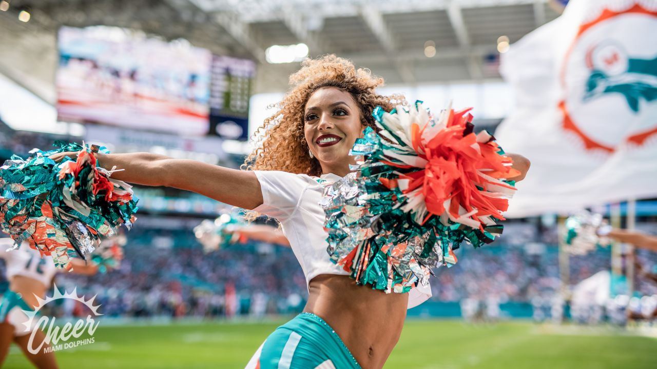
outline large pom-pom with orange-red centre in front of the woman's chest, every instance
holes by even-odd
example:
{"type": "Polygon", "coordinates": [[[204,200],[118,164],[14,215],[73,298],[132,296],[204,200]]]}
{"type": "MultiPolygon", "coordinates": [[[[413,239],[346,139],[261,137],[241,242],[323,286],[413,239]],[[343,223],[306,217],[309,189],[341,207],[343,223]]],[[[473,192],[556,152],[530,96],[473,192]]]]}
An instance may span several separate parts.
{"type": "Polygon", "coordinates": [[[416,102],[373,115],[380,131],[365,129],[355,172],[322,200],[328,253],[358,284],[402,293],[456,263],[464,240],[479,247],[501,234],[515,191],[506,179],[519,173],[491,135],[473,132],[468,110],[433,119],[416,102]]]}

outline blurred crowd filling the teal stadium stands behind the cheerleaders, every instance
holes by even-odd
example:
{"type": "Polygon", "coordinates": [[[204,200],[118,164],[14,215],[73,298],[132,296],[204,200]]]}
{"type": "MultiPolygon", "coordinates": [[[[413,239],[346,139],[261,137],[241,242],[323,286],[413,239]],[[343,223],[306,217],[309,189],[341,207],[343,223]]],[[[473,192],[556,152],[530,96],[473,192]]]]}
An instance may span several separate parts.
{"type": "MultiPolygon", "coordinates": [[[[556,229],[538,227],[537,232],[532,223],[509,223],[507,228],[495,244],[478,250],[463,244],[454,267],[436,269],[432,301],[493,310],[511,301],[550,311],[560,290],[556,229]]],[[[250,242],[204,253],[189,230],[135,229],[127,236],[120,268],[95,276],[58,274],[60,290],[97,294],[104,315],[124,317],[261,317],[298,313],[306,302],[304,274],[283,246],[250,242]]],[[[608,270],[609,263],[608,248],[570,257],[571,284],[608,270]]],[[[639,288],[657,293],[653,284],[639,282],[639,288]]],[[[76,308],[56,309],[66,316],[75,315],[76,308]]],[[[540,314],[535,318],[541,319],[540,314]]]]}

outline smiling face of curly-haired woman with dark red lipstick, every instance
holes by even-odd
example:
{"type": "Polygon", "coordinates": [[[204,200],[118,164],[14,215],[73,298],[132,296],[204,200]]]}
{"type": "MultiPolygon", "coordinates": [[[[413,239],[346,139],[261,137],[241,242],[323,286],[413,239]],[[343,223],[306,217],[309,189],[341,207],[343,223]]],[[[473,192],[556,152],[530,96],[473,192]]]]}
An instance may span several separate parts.
{"type": "Polygon", "coordinates": [[[317,89],[304,110],[304,136],[323,173],[344,176],[349,151],[363,133],[361,112],[351,94],[336,87],[317,89]]]}

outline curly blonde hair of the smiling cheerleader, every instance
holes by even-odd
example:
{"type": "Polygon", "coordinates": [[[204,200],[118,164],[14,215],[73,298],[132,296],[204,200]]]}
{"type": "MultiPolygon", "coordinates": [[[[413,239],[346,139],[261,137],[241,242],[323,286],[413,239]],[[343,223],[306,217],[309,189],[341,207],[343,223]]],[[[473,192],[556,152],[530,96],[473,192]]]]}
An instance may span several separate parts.
{"type": "Polygon", "coordinates": [[[373,76],[368,69],[356,69],[349,60],[335,55],[306,59],[302,68],[290,76],[292,88],[273,107],[277,112],[265,119],[256,131],[256,148],[247,156],[242,169],[278,170],[295,174],[321,175],[316,158],[308,154],[304,137],[304,110],[310,95],[322,87],[337,87],[351,94],[360,108],[363,125],[375,128],[372,111],[381,106],[386,111],[405,104],[400,95],[377,95],[383,78],[373,76]]]}

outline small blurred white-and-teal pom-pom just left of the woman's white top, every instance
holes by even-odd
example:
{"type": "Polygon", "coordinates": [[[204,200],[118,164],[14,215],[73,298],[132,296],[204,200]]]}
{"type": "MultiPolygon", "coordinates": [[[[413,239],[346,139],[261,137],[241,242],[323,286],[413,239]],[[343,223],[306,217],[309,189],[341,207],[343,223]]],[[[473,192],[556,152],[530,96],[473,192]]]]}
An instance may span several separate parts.
{"type": "Polygon", "coordinates": [[[206,253],[225,248],[240,240],[240,234],[235,232],[244,225],[242,217],[233,213],[224,213],[214,221],[208,219],[194,227],[194,236],[203,246],[206,253]]]}

